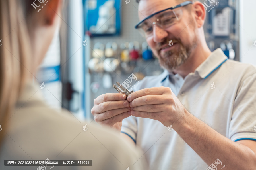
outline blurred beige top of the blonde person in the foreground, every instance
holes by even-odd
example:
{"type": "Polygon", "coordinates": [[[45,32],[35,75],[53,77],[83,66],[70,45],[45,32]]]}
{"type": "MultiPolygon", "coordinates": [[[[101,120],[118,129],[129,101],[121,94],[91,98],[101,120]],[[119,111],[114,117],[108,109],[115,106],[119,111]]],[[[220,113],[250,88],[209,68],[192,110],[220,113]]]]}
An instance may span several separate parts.
{"type": "MultiPolygon", "coordinates": [[[[92,166],[54,166],[52,169],[147,169],[143,153],[120,134],[93,122],[80,123],[68,111],[57,112],[42,101],[39,85],[30,83],[7,120],[0,153],[0,169],[36,169],[38,166],[4,166],[7,159],[88,159],[92,166]],[[87,124],[87,130],[83,126],[87,124]]],[[[51,167],[47,167],[47,170],[51,167]]]]}

